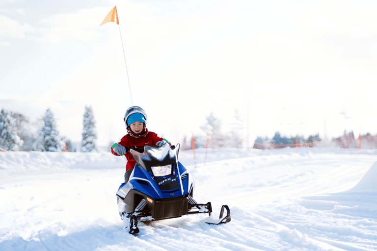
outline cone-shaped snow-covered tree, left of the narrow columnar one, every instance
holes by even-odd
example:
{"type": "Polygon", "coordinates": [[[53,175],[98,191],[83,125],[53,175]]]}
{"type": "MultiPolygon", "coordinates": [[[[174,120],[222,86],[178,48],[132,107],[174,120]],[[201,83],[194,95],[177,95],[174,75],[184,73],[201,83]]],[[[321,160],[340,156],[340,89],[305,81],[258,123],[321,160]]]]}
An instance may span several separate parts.
{"type": "Polygon", "coordinates": [[[62,141],[56,128],[54,115],[48,108],[43,117],[44,126],[41,128],[37,140],[33,144],[35,151],[61,151],[62,141]]]}

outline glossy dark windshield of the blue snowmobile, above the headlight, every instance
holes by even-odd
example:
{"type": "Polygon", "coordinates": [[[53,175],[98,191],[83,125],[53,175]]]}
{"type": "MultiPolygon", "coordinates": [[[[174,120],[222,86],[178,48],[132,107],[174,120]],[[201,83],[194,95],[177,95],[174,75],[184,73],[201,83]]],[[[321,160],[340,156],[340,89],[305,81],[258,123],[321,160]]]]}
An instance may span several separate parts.
{"type": "Polygon", "coordinates": [[[151,166],[162,166],[175,164],[178,160],[178,152],[180,145],[170,146],[168,143],[161,147],[145,146],[144,152],[140,153],[133,149],[130,150],[137,165],[147,171],[150,171],[151,166]]]}

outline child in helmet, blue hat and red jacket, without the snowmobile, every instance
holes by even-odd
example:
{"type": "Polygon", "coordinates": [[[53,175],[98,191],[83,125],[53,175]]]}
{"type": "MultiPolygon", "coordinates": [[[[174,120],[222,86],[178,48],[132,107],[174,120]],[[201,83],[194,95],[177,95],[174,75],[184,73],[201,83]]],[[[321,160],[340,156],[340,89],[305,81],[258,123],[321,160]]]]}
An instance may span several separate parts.
{"type": "Polygon", "coordinates": [[[130,148],[143,146],[160,147],[168,141],[157,136],[156,133],[148,131],[146,128],[147,114],[139,106],[131,106],[128,108],[123,120],[128,134],[126,134],[120,142],[112,145],[111,153],[116,156],[126,155],[127,165],[126,173],[124,174],[124,182],[127,183],[136,164],[135,159],[129,152],[130,148]]]}

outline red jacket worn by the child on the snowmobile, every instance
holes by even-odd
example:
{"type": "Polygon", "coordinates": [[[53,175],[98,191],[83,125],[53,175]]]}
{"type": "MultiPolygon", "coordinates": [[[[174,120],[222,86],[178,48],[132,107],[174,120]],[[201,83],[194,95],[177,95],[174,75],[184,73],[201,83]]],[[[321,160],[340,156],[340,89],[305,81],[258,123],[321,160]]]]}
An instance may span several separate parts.
{"type": "MultiPolygon", "coordinates": [[[[160,138],[157,136],[157,133],[149,131],[145,137],[139,137],[135,138],[132,137],[130,134],[126,134],[118,144],[124,146],[125,148],[131,148],[131,147],[143,147],[143,146],[156,146],[156,143],[159,141],[162,141],[163,138],[160,138]]],[[[111,148],[111,153],[119,156],[114,150],[111,148]]],[[[136,161],[132,157],[131,153],[128,151],[126,153],[127,158],[127,165],[126,165],[126,171],[130,168],[134,168],[136,161]]]]}

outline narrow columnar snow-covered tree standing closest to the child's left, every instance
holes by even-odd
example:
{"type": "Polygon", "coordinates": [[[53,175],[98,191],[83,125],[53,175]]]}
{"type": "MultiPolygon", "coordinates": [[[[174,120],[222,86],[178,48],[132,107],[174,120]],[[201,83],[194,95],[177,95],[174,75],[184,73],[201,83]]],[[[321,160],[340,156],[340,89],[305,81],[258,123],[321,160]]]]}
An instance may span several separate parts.
{"type": "Polygon", "coordinates": [[[91,106],[85,106],[85,113],[83,116],[83,129],[82,129],[82,141],[81,152],[97,151],[96,148],[96,123],[94,121],[93,110],[91,106]]]}

